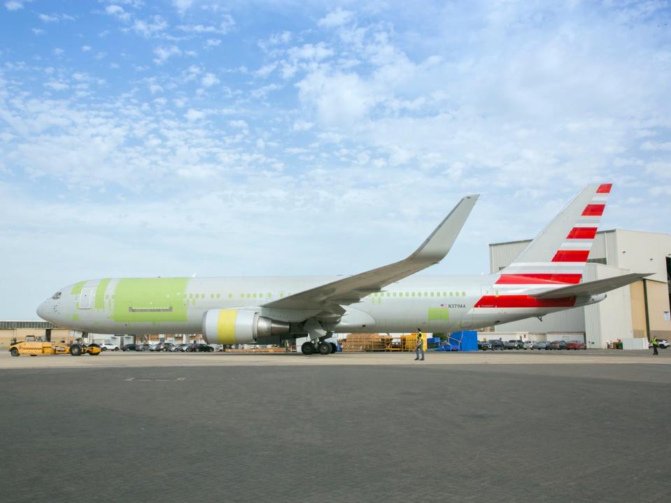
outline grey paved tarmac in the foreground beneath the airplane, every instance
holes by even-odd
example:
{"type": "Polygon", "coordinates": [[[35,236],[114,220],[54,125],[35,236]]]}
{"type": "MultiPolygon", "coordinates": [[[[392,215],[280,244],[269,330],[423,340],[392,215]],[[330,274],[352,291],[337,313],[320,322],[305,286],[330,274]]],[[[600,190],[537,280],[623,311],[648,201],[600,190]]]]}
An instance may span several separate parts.
{"type": "Polygon", "coordinates": [[[0,501],[666,502],[671,351],[626,353],[0,353],[0,501]]]}

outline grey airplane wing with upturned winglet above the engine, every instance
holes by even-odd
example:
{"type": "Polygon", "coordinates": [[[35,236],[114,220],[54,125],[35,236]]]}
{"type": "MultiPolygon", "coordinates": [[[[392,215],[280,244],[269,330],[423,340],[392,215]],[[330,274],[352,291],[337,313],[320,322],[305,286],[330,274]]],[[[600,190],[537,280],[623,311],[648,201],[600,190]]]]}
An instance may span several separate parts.
{"type": "Polygon", "coordinates": [[[383,287],[437,264],[450,251],[471,213],[479,194],[464,197],[412,255],[371,271],[347,276],[332,283],[264,304],[278,309],[323,309],[343,313],[341,305],[355,304],[383,287]]]}

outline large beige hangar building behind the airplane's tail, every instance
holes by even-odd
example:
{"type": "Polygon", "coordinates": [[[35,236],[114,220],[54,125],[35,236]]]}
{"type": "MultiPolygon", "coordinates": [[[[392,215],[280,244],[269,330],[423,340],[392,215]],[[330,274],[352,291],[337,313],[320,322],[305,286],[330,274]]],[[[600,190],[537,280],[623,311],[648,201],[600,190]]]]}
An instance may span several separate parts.
{"type": "MultiPolygon", "coordinates": [[[[490,271],[507,267],[530,242],[490,244],[490,271]]],[[[598,232],[587,262],[585,281],[628,272],[653,274],[608,292],[598,304],[552,313],[542,320],[504,323],[495,332],[536,334],[541,340],[584,336],[588,348],[606,348],[607,341],[618,339],[671,339],[671,236],[620,229],[598,232]]]]}

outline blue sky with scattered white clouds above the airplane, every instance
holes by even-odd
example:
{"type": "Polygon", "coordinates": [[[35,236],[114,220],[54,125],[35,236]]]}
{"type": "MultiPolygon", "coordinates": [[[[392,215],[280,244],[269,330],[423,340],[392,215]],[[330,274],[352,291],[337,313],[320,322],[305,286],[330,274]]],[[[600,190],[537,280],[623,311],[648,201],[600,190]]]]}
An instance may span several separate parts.
{"type": "Polygon", "coordinates": [[[668,1],[0,1],[0,318],[115,276],[353,274],[482,197],[670,232],[668,1]]]}

